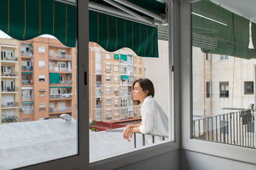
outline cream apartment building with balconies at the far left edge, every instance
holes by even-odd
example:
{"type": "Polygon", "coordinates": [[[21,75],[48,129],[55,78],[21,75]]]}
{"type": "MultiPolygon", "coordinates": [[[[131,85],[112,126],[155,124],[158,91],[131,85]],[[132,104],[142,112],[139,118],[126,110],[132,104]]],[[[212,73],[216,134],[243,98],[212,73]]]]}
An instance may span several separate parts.
{"type": "Polygon", "coordinates": [[[1,122],[17,122],[19,118],[19,41],[0,38],[1,50],[1,122]]]}

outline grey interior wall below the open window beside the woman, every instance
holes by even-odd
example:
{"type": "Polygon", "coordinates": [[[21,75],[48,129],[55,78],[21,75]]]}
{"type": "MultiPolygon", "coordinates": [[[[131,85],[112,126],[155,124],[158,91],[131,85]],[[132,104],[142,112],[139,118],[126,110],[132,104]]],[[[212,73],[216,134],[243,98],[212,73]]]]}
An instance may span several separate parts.
{"type": "Polygon", "coordinates": [[[118,170],[131,170],[131,169],[147,169],[147,170],[179,170],[180,169],[180,150],[164,153],[150,159],[146,159],[129,166],[118,168],[118,170]]]}

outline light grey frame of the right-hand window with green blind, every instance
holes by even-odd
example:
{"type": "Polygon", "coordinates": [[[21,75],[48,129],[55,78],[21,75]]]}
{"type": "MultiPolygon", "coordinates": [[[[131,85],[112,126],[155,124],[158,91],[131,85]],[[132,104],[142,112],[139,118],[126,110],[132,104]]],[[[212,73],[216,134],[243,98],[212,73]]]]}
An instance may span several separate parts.
{"type": "MultiPolygon", "coordinates": [[[[196,0],[197,1],[197,0],[196,0]]],[[[255,149],[192,138],[192,37],[191,4],[180,1],[180,145],[183,150],[255,164],[255,149]]],[[[175,67],[175,69],[177,69],[175,67]]],[[[175,92],[175,90],[173,91],[175,92]]]]}

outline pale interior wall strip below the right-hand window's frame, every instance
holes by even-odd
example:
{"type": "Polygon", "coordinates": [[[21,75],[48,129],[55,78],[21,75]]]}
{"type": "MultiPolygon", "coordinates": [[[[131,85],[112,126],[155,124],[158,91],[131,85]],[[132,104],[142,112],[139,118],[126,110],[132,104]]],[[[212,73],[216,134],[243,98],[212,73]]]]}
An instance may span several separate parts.
{"type": "Polygon", "coordinates": [[[182,170],[254,170],[256,165],[230,160],[204,153],[180,150],[180,169],[182,170]]]}

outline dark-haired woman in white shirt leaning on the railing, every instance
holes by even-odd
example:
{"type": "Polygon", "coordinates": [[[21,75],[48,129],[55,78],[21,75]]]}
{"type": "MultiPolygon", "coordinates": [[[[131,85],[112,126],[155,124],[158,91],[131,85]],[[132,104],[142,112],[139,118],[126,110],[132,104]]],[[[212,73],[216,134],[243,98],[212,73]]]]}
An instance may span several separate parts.
{"type": "MultiPolygon", "coordinates": [[[[168,118],[161,106],[154,100],[154,85],[147,78],[135,80],[132,83],[133,103],[141,104],[141,124],[127,125],[123,131],[123,138],[131,141],[132,132],[141,132],[143,134],[161,134],[168,136],[168,118]]],[[[145,136],[146,143],[152,143],[152,136],[145,136]]],[[[155,142],[161,141],[161,138],[155,137],[155,142]]]]}

